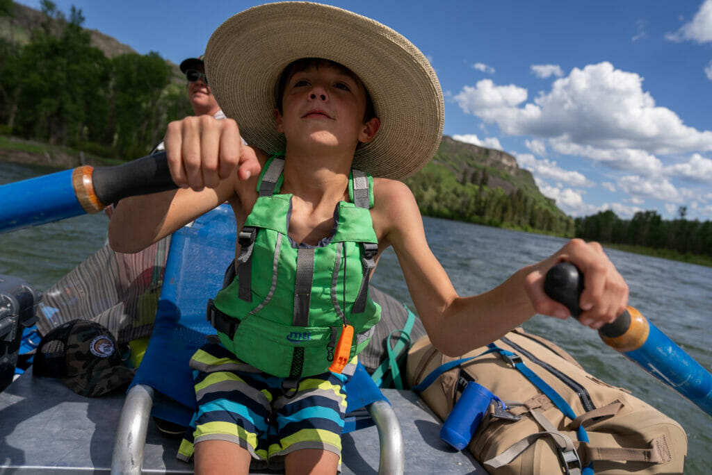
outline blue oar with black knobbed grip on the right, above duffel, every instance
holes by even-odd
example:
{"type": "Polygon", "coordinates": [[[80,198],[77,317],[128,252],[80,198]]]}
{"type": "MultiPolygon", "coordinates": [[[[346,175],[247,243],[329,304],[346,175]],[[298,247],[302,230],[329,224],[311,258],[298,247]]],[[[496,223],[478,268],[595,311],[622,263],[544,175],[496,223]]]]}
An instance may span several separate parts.
{"type": "MultiPolygon", "coordinates": [[[[572,316],[581,313],[583,275],[570,262],[560,262],[545,277],[544,290],[565,304],[572,316]]],[[[628,306],[612,324],[598,331],[601,339],[644,370],[712,415],[712,375],[642,314],[628,306]]]]}

